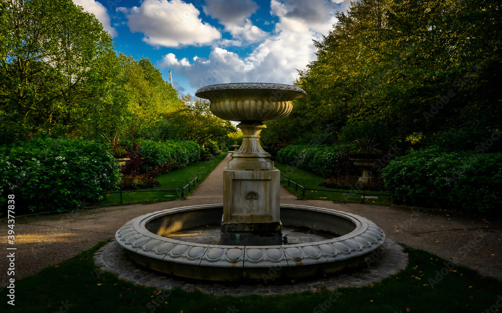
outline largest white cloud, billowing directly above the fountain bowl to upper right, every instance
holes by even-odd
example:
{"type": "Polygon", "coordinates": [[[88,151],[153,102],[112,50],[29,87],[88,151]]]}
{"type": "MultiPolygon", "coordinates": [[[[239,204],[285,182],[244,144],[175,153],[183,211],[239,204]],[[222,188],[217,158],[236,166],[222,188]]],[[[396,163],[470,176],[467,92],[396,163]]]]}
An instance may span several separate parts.
{"type": "MultiPolygon", "coordinates": [[[[304,69],[316,59],[317,50],[312,40],[322,40],[322,35],[326,35],[336,23],[336,11],[345,10],[349,6],[349,2],[345,0],[340,4],[322,0],[311,0],[308,3],[302,0],[289,0],[285,3],[271,0],[271,14],[279,18],[275,34],[267,34],[267,37],[261,39],[257,37],[259,45],[246,57],[239,57],[240,49],[243,48],[233,47],[230,51],[222,49],[220,45],[211,51],[207,60],[194,58],[192,63],[188,60],[183,62],[178,61],[174,54],[169,54],[164,57],[161,66],[182,73],[193,89],[230,82],[292,84],[298,78],[296,70],[304,69]]],[[[252,23],[247,22],[247,17],[238,21],[240,25],[234,24],[236,28],[233,32],[245,37],[243,33],[238,33],[237,28],[247,27],[252,30],[252,23]]],[[[228,21],[225,23],[225,30],[230,31],[232,25],[228,21]]],[[[247,32],[247,36],[250,36],[249,33],[252,32],[247,32]]],[[[245,38],[242,40],[252,41],[245,38]]]]}

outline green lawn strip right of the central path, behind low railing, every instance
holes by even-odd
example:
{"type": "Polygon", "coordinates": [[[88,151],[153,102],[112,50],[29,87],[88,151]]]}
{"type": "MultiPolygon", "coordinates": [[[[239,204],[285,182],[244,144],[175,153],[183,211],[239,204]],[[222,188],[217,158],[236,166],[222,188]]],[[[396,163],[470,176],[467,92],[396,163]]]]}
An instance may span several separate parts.
{"type": "MultiPolygon", "coordinates": [[[[313,200],[331,200],[331,201],[341,201],[341,202],[361,202],[363,194],[385,194],[385,191],[360,191],[360,190],[346,190],[346,189],[334,189],[319,186],[320,183],[324,181],[324,177],[316,175],[312,172],[305,171],[299,168],[284,165],[278,161],[274,161],[274,166],[281,171],[281,179],[286,178],[292,180],[299,185],[304,186],[308,189],[324,189],[324,190],[335,190],[342,192],[329,192],[329,191],[313,191],[305,190],[305,199],[313,200]],[[347,193],[350,192],[350,193],[347,193]]],[[[302,188],[298,187],[296,189],[296,184],[290,183],[288,187],[288,181],[283,181],[282,183],[289,191],[294,193],[300,199],[302,198],[302,188]]],[[[378,199],[366,199],[364,198],[364,203],[375,203],[375,204],[392,204],[387,196],[376,195],[378,199]]]]}

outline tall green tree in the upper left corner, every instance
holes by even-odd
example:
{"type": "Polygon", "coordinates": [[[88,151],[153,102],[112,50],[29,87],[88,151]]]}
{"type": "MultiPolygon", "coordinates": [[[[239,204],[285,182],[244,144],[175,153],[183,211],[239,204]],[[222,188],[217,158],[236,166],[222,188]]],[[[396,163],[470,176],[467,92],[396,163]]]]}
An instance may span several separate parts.
{"type": "Polygon", "coordinates": [[[1,8],[2,139],[75,131],[114,74],[106,71],[115,56],[110,36],[71,0],[10,0],[1,8]]]}

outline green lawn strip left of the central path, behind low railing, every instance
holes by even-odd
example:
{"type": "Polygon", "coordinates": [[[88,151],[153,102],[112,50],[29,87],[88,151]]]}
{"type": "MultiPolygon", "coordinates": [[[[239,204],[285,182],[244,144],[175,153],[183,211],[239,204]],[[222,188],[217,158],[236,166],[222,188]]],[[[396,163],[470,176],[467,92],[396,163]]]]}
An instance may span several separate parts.
{"type": "MultiPolygon", "coordinates": [[[[160,187],[140,189],[140,190],[179,190],[178,192],[122,192],[122,203],[135,203],[144,201],[176,200],[181,196],[181,187],[186,186],[195,177],[199,177],[202,182],[209,173],[226,157],[223,152],[213,156],[209,161],[199,161],[182,169],[159,175],[156,179],[161,183],[160,187]]],[[[200,183],[199,182],[199,183],[200,183]]],[[[196,183],[197,186],[199,183],[196,183]]],[[[193,184],[191,185],[193,191],[193,184]]],[[[185,189],[184,196],[190,192],[185,189]]],[[[106,199],[101,200],[94,205],[113,205],[120,203],[119,193],[110,193],[106,199]]]]}

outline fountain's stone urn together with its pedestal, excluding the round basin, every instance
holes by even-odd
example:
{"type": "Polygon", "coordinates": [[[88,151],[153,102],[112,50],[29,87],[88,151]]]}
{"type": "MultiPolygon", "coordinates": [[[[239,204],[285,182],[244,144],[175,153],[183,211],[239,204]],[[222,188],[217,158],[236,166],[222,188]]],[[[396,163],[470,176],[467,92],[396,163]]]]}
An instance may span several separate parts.
{"type": "Polygon", "coordinates": [[[221,244],[281,244],[280,171],[260,145],[260,132],[267,128],[263,122],[286,117],[291,102],[307,94],[290,85],[233,83],[202,87],[195,95],[208,99],[217,117],[240,122],[242,131],[242,144],[223,171],[221,244]]]}

